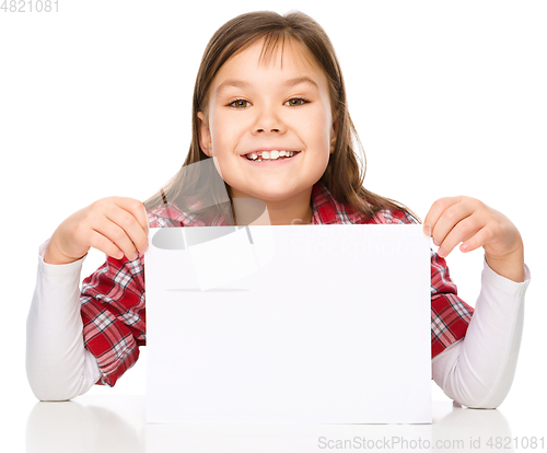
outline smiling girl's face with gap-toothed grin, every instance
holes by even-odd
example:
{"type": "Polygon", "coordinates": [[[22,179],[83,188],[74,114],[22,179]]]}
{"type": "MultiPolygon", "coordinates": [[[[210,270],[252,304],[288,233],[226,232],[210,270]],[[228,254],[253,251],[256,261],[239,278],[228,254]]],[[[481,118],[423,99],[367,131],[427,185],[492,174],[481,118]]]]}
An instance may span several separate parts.
{"type": "Polygon", "coordinates": [[[217,158],[234,198],[310,200],[334,151],[324,71],[300,44],[286,42],[282,59],[280,47],[269,60],[259,61],[263,40],[231,57],[211,83],[207,113],[198,113],[201,149],[217,158]]]}

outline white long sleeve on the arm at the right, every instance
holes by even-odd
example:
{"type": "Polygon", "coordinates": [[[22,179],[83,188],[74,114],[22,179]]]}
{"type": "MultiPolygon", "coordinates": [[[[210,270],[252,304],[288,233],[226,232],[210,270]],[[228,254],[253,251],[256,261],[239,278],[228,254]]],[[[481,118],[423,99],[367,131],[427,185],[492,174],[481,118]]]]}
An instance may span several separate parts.
{"type": "Polygon", "coordinates": [[[472,408],[498,407],[511,388],[529,283],[496,274],[485,260],[481,290],[465,338],[437,356],[433,379],[444,393],[472,408]]]}

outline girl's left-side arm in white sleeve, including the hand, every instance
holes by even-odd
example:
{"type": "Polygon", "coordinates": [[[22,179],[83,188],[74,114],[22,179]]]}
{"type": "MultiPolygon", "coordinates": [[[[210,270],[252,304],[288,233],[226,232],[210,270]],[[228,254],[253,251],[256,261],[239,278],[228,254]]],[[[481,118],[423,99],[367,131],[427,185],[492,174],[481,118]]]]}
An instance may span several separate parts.
{"type": "Polygon", "coordinates": [[[82,258],[94,247],[109,256],[136,259],[148,247],[147,234],[142,202],[109,197],[67,218],[42,247],[26,344],[27,376],[39,399],[70,399],[86,392],[102,374],[83,346],[82,258]]]}

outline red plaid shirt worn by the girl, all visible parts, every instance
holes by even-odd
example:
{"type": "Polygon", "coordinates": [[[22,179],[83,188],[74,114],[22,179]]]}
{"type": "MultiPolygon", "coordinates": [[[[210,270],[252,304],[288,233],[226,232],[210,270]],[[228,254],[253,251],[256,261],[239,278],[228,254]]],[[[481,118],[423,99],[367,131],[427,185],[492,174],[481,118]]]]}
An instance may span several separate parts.
{"type": "MultiPolygon", "coordinates": [[[[416,223],[401,210],[383,210],[368,218],[338,204],[317,183],[312,190],[312,224],[416,223]]],[[[173,206],[149,213],[151,228],[205,226],[173,206]]],[[[217,217],[209,225],[225,225],[217,217]]],[[[82,283],[81,314],[85,348],[96,357],[102,373],[97,384],[113,386],[139,358],[147,344],[143,255],[129,262],[108,257],[82,283]]],[[[435,357],[465,336],[474,309],[462,301],[446,263],[431,252],[431,356],[435,357]]]]}

